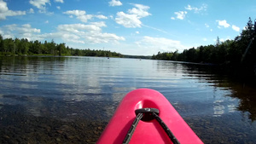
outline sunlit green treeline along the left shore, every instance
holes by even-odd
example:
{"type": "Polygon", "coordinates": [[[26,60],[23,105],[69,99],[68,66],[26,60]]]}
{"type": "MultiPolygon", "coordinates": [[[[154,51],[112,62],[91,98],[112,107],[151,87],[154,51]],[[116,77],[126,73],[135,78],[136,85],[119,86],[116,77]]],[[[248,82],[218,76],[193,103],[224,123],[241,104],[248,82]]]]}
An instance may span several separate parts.
{"type": "Polygon", "coordinates": [[[109,50],[73,49],[65,43],[28,41],[26,38],[5,38],[0,34],[0,55],[74,55],[74,56],[106,56],[123,57],[109,50]]]}

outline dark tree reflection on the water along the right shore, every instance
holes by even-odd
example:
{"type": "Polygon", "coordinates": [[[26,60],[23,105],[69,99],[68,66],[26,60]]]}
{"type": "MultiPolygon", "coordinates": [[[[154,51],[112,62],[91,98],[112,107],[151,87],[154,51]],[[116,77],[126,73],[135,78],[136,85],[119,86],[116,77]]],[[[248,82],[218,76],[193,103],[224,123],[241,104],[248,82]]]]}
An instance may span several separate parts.
{"type": "Polygon", "coordinates": [[[230,89],[232,95],[240,100],[237,110],[247,114],[252,121],[256,120],[256,85],[254,79],[246,77],[235,78],[224,75],[224,71],[218,66],[203,66],[195,64],[186,64],[185,72],[204,79],[207,83],[213,83],[214,87],[221,89],[230,89]],[[198,74],[205,73],[207,75],[198,74]],[[209,75],[212,74],[212,77],[209,75]]]}

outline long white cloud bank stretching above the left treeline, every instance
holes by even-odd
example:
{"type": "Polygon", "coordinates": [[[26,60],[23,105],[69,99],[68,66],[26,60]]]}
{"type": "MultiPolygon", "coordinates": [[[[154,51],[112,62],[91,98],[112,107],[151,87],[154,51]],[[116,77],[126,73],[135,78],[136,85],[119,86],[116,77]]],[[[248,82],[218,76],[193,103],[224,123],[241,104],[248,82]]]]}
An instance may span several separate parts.
{"type": "Polygon", "coordinates": [[[56,32],[41,34],[40,29],[33,28],[30,24],[6,25],[0,27],[4,38],[19,37],[28,40],[59,39],[64,43],[119,43],[125,41],[125,37],[119,37],[114,33],[102,32],[106,27],[105,22],[91,22],[88,25],[70,24],[57,26],[56,32]]]}

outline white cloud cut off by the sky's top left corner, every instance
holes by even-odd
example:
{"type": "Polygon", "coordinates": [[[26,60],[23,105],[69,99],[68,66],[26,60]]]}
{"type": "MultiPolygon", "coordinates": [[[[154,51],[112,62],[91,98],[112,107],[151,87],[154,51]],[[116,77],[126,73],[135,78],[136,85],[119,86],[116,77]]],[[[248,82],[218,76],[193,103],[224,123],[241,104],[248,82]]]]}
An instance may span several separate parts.
{"type": "Polygon", "coordinates": [[[0,0],[0,20],[5,20],[7,16],[25,15],[26,11],[9,10],[7,3],[0,0]]]}

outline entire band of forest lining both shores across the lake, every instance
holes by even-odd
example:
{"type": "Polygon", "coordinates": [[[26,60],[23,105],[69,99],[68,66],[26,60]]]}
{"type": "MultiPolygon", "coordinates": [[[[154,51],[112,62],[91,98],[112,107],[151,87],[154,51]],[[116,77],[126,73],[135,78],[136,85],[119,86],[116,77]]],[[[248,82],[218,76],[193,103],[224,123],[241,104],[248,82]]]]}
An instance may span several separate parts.
{"type": "MultiPolygon", "coordinates": [[[[217,37],[215,44],[184,49],[182,53],[158,52],[153,60],[177,60],[207,65],[224,66],[231,72],[249,72],[256,75],[256,21],[249,20],[241,34],[234,40],[220,42],[217,37]]],[[[121,55],[109,50],[73,49],[65,43],[44,41],[28,41],[26,38],[5,38],[0,34],[0,55],[60,55],[60,56],[98,56],[149,59],[151,56],[121,55]]],[[[247,74],[247,73],[246,73],[247,74]]]]}

